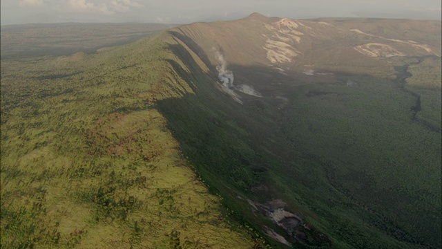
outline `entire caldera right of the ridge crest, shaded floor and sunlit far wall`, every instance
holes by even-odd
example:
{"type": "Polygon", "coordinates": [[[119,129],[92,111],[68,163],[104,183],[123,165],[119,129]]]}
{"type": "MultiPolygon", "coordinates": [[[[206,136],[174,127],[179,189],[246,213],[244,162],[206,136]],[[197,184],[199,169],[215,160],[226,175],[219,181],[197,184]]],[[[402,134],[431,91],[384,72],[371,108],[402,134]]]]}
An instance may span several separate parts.
{"type": "Polygon", "coordinates": [[[195,95],[159,109],[197,172],[278,246],[438,248],[440,82],[405,79],[409,64],[440,65],[440,26],[413,21],[398,40],[357,22],[255,14],[173,29],[195,95]]]}

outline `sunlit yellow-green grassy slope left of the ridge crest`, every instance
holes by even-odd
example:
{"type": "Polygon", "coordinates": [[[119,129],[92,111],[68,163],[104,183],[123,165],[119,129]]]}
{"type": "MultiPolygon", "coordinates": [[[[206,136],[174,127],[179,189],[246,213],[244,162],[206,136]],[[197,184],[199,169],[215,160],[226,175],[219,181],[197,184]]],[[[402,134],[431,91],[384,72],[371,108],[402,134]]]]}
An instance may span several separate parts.
{"type": "Polygon", "coordinates": [[[192,93],[163,39],[2,59],[2,248],[259,243],[221,215],[155,109],[153,100],[192,93]]]}

